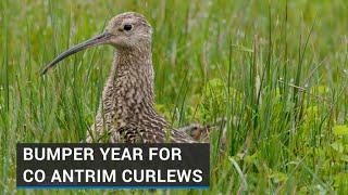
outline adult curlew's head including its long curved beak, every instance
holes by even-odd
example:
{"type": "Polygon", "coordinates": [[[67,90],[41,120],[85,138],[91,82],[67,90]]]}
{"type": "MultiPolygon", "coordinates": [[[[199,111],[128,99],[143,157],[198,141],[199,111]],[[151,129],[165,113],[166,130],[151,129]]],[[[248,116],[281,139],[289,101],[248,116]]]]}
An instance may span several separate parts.
{"type": "Polygon", "coordinates": [[[121,50],[134,48],[141,49],[151,44],[151,36],[152,28],[144,15],[135,12],[119,14],[109,22],[101,35],[74,46],[61,53],[41,70],[41,75],[46,74],[51,67],[55,66],[65,57],[87,48],[100,44],[111,44],[121,50]]]}

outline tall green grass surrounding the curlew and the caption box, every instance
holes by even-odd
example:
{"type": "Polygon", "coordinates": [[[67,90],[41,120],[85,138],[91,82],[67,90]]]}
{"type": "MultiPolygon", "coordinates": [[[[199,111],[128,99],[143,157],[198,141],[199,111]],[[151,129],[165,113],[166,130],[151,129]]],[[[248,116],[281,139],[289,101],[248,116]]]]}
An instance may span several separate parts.
{"type": "MultiPolygon", "coordinates": [[[[15,143],[83,141],[112,48],[79,53],[46,77],[38,72],[125,11],[154,28],[159,110],[176,127],[227,119],[225,136],[211,138],[210,190],[170,193],[348,192],[347,1],[2,0],[2,193],[48,194],[15,188],[15,143]]],[[[85,192],[100,193],[55,191],[85,192]]]]}

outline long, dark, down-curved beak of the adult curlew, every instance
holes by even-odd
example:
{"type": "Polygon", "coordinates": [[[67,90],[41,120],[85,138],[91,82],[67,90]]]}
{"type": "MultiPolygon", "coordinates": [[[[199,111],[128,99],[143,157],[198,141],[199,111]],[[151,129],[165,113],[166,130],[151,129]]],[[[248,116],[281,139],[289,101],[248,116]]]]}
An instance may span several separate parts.
{"type": "Polygon", "coordinates": [[[61,53],[58,57],[55,57],[52,62],[50,62],[41,72],[40,75],[45,75],[50,68],[52,68],[53,66],[55,66],[59,62],[61,62],[62,60],[64,60],[65,57],[77,53],[79,51],[86,50],[87,48],[91,48],[95,46],[99,46],[99,44],[103,44],[103,43],[108,43],[110,38],[112,37],[112,34],[109,32],[103,32],[92,39],[89,39],[85,42],[82,42],[77,46],[74,46],[73,48],[69,49],[67,51],[61,53]]]}

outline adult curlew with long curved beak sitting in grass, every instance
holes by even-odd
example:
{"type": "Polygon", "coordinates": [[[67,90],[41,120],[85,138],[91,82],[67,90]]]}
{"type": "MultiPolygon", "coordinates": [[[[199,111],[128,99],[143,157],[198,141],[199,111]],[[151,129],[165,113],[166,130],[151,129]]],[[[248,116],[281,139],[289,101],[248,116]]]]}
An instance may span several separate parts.
{"type": "Polygon", "coordinates": [[[46,74],[63,58],[87,48],[110,44],[114,62],[102,92],[96,121],[87,132],[87,142],[196,142],[207,128],[191,125],[182,130],[171,125],[154,109],[152,28],[145,16],[126,12],[114,16],[101,35],[72,47],[49,63],[46,74]],[[195,133],[187,134],[186,130],[195,133]]]}

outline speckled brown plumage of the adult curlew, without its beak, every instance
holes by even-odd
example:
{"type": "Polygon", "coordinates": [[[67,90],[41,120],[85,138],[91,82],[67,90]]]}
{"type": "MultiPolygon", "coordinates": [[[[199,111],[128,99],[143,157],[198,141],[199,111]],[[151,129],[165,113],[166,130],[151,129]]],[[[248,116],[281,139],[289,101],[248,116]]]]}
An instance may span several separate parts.
{"type": "Polygon", "coordinates": [[[184,131],[171,128],[154,110],[150,25],[139,14],[125,13],[111,20],[108,28],[125,23],[132,24],[135,30],[140,28],[141,32],[135,34],[142,37],[137,35],[140,38],[133,46],[116,49],[96,123],[87,141],[92,141],[92,133],[95,141],[107,135],[111,142],[192,142],[184,131]]]}

